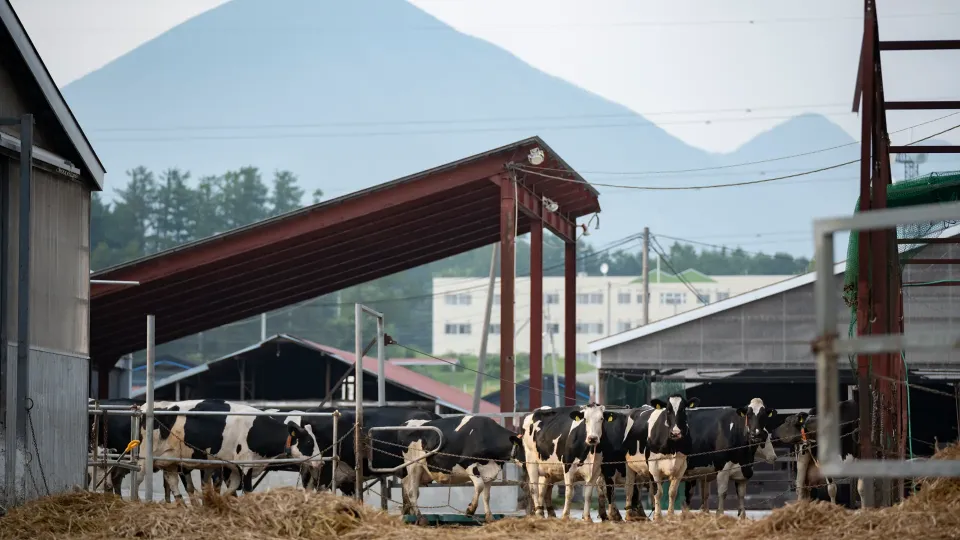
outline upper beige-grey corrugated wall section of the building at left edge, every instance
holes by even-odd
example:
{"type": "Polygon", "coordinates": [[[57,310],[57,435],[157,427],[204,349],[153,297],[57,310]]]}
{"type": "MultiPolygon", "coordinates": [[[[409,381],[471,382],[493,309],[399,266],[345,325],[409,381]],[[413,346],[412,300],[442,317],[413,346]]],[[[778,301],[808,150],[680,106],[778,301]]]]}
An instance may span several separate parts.
{"type": "MultiPolygon", "coordinates": [[[[10,167],[11,268],[18,264],[20,167],[10,167]]],[[[30,342],[43,350],[90,351],[90,192],[80,183],[34,169],[30,204],[30,342]]],[[[17,282],[8,276],[8,331],[16,339],[17,282]]]]}

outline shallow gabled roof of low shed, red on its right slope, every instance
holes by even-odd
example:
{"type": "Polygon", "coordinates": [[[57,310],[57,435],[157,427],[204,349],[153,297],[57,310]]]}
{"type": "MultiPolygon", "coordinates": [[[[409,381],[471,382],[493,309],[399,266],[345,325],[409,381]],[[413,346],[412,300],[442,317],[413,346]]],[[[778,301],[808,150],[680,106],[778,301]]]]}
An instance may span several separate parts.
{"type": "MultiPolygon", "coordinates": [[[[259,343],[255,343],[249,347],[241,349],[239,351],[232,352],[226,356],[212,360],[205,364],[181,371],[169,377],[165,377],[156,381],[154,388],[162,388],[164,386],[173,384],[177,381],[183,381],[194,377],[200,373],[204,373],[210,370],[211,366],[217,365],[221,362],[236,360],[240,358],[244,353],[262,349],[271,344],[283,342],[291,343],[305,349],[315,351],[323,354],[328,358],[333,358],[339,360],[344,364],[353,366],[356,365],[356,355],[335,347],[329,347],[327,345],[321,345],[313,341],[299,338],[296,336],[291,336],[289,334],[278,334],[271,338],[268,338],[259,343]]],[[[136,369],[136,368],[135,368],[136,369]]],[[[370,356],[363,357],[363,371],[373,377],[376,377],[379,370],[377,365],[377,359],[370,356]]],[[[431,401],[436,401],[438,404],[455,409],[462,412],[470,412],[471,407],[473,406],[473,396],[467,394],[457,388],[446,385],[442,382],[431,379],[430,377],[417,373],[415,371],[409,370],[402,366],[397,366],[390,364],[389,362],[386,365],[384,370],[386,379],[391,384],[403,387],[404,389],[413,392],[415,394],[422,395],[426,398],[429,398],[431,401]]],[[[140,398],[146,392],[146,388],[136,388],[130,393],[131,398],[140,398]]],[[[319,399],[317,400],[319,402],[319,399]]],[[[480,402],[480,412],[481,413],[496,413],[500,409],[496,405],[493,405],[490,402],[482,401],[480,402]]]]}

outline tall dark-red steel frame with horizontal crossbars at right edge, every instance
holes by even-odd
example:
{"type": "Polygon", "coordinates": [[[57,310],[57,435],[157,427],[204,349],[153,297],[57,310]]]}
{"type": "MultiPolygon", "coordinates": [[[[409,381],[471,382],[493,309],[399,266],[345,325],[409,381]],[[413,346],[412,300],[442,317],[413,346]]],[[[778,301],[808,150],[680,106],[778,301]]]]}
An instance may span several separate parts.
{"type": "MultiPolygon", "coordinates": [[[[890,154],[901,152],[960,153],[960,147],[891,146],[887,110],[957,109],[957,101],[886,101],[881,51],[960,49],[960,41],[881,42],[875,0],[864,0],[863,44],[853,110],[861,110],[860,211],[887,207],[891,184],[890,154]],[[861,108],[862,105],[862,108],[861,108]]],[[[947,243],[952,239],[897,240],[895,230],[860,232],[857,260],[857,334],[903,333],[903,290],[897,244],[947,243]]],[[[924,261],[929,261],[924,259],[924,261]]],[[[919,262],[919,261],[913,261],[919,262]]],[[[950,264],[936,259],[930,264],[950,264]]],[[[897,354],[860,355],[860,450],[864,458],[904,459],[907,438],[906,366],[897,354]],[[872,382],[872,385],[870,384],[872,382]],[[873,403],[874,396],[879,403],[873,403]],[[874,413],[877,413],[875,416],[874,413]],[[874,421],[881,429],[875,433],[874,421]],[[895,433],[891,439],[889,433],[895,433]]],[[[900,490],[902,493],[902,490],[900,490]]],[[[884,495],[886,498],[886,495],[884,495]]],[[[894,498],[896,495],[894,495],[894,498]]],[[[886,502],[886,501],[884,501],[886,502]]]]}

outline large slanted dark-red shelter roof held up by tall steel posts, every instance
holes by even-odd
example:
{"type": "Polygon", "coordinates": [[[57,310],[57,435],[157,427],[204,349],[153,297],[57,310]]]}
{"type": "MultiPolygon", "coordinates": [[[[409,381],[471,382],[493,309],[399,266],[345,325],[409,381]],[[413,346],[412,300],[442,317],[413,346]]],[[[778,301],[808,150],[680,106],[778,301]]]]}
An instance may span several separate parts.
{"type": "MultiPolygon", "coordinates": [[[[144,349],[147,314],[165,343],[497,242],[497,182],[537,147],[539,167],[563,172],[521,175],[520,195],[552,199],[569,222],[599,212],[593,187],[525,139],[94,273],[140,285],[91,290],[91,357],[113,365],[144,349]]],[[[517,234],[530,223],[518,211],[517,234]]]]}

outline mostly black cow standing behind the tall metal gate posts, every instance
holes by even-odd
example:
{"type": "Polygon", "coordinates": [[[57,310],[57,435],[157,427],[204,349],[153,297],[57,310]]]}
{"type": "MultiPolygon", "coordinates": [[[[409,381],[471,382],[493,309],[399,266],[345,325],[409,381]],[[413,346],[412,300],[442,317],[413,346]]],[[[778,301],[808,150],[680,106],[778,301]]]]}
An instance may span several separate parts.
{"type": "MultiPolygon", "coordinates": [[[[330,408],[307,409],[306,412],[332,412],[330,408]]],[[[364,435],[372,427],[396,427],[402,426],[408,420],[437,420],[440,415],[414,407],[371,407],[363,411],[363,430],[364,435]]],[[[356,456],[354,446],[354,433],[351,431],[355,424],[356,413],[354,411],[341,411],[341,416],[337,423],[337,438],[342,439],[338,447],[339,467],[333,470],[329,463],[322,463],[317,469],[317,480],[315,485],[317,489],[321,486],[331,485],[333,475],[336,474],[337,487],[344,495],[353,496],[356,490],[356,456]]],[[[333,446],[333,417],[303,417],[302,426],[306,429],[308,426],[315,437],[318,452],[329,456],[332,453],[333,446]]],[[[372,449],[367,448],[366,455],[362,460],[361,472],[364,480],[368,478],[383,478],[388,476],[399,476],[403,465],[403,458],[400,456],[401,446],[397,431],[374,432],[371,437],[372,449]],[[373,460],[375,468],[397,468],[393,473],[373,473],[370,471],[370,459],[373,460]]],[[[362,486],[361,486],[362,489],[362,486]]]]}

